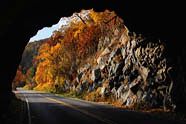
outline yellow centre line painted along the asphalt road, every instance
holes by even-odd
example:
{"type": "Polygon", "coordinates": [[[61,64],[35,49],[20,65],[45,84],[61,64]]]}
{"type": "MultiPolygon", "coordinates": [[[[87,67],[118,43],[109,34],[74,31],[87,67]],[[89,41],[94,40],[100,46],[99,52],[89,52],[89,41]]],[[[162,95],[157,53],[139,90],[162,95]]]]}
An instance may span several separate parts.
{"type": "Polygon", "coordinates": [[[63,104],[63,105],[65,105],[66,107],[72,108],[72,109],[74,109],[74,110],[76,110],[76,111],[79,111],[79,112],[81,112],[81,113],[83,113],[83,114],[86,114],[86,115],[88,115],[88,116],[90,116],[90,117],[93,117],[93,118],[95,118],[95,119],[97,119],[97,120],[99,120],[99,121],[105,122],[106,124],[117,124],[117,123],[115,123],[115,122],[113,122],[113,121],[111,121],[111,120],[102,118],[102,117],[100,117],[100,116],[97,116],[97,115],[92,114],[92,113],[90,113],[90,112],[88,112],[88,111],[85,111],[85,110],[82,110],[82,109],[77,108],[77,107],[75,107],[75,106],[72,106],[72,105],[70,105],[70,104],[68,104],[68,103],[65,103],[65,102],[63,102],[63,101],[56,100],[56,99],[53,99],[53,98],[50,98],[50,97],[47,97],[47,96],[43,96],[43,95],[41,95],[41,94],[39,94],[39,95],[42,96],[42,97],[45,97],[46,99],[48,99],[48,100],[50,100],[50,101],[63,104]]]}

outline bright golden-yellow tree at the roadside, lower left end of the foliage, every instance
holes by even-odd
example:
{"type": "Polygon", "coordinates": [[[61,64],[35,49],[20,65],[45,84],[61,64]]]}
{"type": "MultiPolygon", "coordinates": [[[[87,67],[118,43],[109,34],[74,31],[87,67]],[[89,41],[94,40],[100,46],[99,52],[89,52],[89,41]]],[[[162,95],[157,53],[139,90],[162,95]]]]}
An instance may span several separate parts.
{"type": "MultiPolygon", "coordinates": [[[[61,69],[65,62],[68,62],[67,58],[64,58],[64,49],[61,43],[50,46],[48,43],[41,46],[39,50],[39,58],[42,61],[38,64],[35,81],[37,87],[35,90],[54,90],[54,83],[57,81],[59,83],[64,82],[61,78],[63,77],[61,69]]],[[[65,72],[65,71],[64,71],[65,72]]]]}

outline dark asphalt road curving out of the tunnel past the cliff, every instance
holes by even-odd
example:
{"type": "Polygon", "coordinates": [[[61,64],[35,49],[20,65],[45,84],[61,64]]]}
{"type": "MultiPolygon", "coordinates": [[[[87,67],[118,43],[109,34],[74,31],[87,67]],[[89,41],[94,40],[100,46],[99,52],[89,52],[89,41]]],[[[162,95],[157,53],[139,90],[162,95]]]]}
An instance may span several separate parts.
{"type": "Polygon", "coordinates": [[[141,112],[18,88],[27,101],[28,124],[184,124],[141,112]]]}

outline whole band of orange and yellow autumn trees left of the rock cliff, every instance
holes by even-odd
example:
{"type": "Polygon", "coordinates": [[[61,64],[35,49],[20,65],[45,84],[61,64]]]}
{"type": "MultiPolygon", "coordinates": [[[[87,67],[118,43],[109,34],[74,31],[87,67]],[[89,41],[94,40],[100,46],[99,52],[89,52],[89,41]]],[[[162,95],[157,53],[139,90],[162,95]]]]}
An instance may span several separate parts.
{"type": "Polygon", "coordinates": [[[62,86],[65,79],[73,80],[72,75],[76,75],[78,65],[94,55],[101,35],[112,30],[111,26],[118,20],[116,14],[109,10],[89,11],[88,20],[79,17],[82,21],[71,21],[70,27],[65,29],[65,32],[54,32],[50,42],[40,47],[38,56],[35,57],[39,60],[36,61],[38,63],[35,76],[38,84],[36,89],[52,89],[55,84],[62,86]]]}

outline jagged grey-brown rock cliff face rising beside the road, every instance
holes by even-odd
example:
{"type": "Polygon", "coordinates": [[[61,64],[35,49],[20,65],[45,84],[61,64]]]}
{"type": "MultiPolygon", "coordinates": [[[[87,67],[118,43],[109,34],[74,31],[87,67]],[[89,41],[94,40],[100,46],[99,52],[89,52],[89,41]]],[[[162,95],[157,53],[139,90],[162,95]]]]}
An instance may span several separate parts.
{"type": "Polygon", "coordinates": [[[125,25],[119,23],[102,31],[97,53],[91,62],[79,67],[75,83],[66,83],[66,89],[96,92],[129,107],[174,110],[173,67],[165,55],[165,44],[129,35],[125,25]]]}

